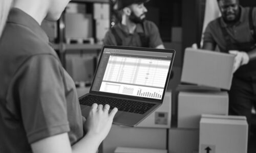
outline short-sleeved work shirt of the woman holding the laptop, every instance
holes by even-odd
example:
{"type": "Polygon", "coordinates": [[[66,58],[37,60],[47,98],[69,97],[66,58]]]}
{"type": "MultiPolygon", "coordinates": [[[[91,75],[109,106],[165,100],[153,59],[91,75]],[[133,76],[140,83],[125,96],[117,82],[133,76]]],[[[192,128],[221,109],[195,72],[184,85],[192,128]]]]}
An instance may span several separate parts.
{"type": "Polygon", "coordinates": [[[30,144],[68,133],[83,136],[74,82],[62,68],[40,25],[10,11],[0,39],[0,152],[32,152],[30,144]]]}

